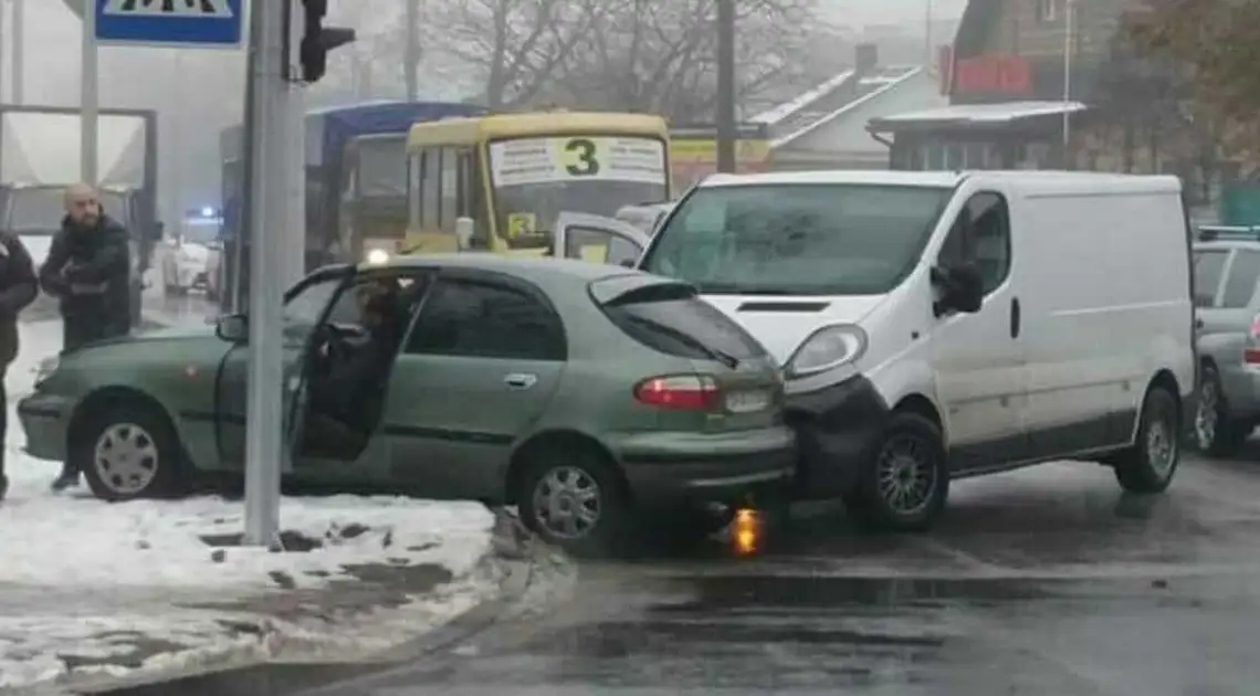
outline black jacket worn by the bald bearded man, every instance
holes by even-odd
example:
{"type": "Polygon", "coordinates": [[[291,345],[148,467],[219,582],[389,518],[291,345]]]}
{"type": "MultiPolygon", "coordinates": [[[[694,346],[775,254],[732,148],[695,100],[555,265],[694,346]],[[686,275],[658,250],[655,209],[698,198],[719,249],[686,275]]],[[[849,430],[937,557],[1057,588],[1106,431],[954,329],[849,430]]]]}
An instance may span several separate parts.
{"type": "Polygon", "coordinates": [[[69,218],[53,235],[48,259],[39,268],[44,292],[60,300],[62,317],[96,322],[89,334],[107,337],[131,328],[131,245],[127,230],[102,215],[83,228],[69,218]]]}

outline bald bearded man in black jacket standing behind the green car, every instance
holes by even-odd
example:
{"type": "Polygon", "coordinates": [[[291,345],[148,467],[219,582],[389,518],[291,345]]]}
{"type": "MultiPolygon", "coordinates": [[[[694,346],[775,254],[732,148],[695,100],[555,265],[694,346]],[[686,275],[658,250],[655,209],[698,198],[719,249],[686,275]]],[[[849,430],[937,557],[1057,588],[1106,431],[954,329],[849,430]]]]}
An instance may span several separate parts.
{"type": "MultiPolygon", "coordinates": [[[[66,189],[66,216],[53,235],[39,284],[60,301],[62,352],[131,330],[131,245],[127,230],[105,214],[96,189],[66,189]]],[[[54,491],[77,486],[79,472],[67,462],[54,491]]]]}

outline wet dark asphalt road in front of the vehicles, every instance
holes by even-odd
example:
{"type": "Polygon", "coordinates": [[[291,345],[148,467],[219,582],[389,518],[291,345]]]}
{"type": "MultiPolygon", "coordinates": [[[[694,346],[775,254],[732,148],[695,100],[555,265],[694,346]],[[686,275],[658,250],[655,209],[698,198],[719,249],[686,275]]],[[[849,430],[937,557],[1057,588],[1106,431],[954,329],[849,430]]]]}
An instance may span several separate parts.
{"type": "Polygon", "coordinates": [[[925,536],[814,510],[755,556],[582,563],[529,615],[319,693],[1260,693],[1260,444],[1154,498],[1094,464],[953,493],[925,536]]]}

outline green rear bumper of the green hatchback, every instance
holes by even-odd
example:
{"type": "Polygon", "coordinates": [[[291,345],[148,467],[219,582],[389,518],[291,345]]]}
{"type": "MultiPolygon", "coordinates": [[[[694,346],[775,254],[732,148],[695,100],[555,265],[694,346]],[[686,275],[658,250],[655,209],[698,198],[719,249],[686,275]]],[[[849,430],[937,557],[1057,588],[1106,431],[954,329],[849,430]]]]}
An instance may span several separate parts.
{"type": "Polygon", "coordinates": [[[645,434],[621,443],[620,459],[645,507],[740,503],[791,482],[796,442],[786,427],[723,434],[645,434]]]}

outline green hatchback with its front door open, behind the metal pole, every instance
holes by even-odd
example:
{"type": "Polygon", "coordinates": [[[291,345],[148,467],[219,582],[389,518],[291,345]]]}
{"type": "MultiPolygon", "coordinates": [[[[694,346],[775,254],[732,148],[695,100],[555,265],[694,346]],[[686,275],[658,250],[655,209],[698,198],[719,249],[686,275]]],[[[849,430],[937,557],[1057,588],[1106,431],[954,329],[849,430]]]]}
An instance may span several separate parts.
{"type": "MultiPolygon", "coordinates": [[[[49,361],[18,405],[28,451],[113,501],[238,476],[247,326],[49,361]]],[[[713,524],[692,511],[795,468],[772,359],[667,278],[491,254],[334,266],[285,295],[284,334],[294,481],[518,505],[548,541],[600,550],[645,514],[713,524]]]]}

